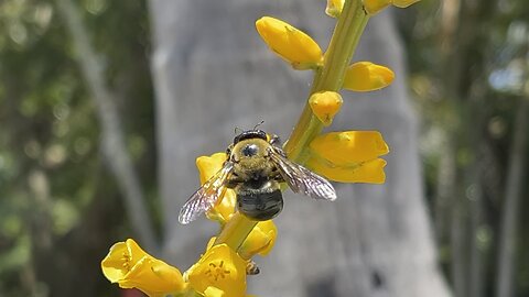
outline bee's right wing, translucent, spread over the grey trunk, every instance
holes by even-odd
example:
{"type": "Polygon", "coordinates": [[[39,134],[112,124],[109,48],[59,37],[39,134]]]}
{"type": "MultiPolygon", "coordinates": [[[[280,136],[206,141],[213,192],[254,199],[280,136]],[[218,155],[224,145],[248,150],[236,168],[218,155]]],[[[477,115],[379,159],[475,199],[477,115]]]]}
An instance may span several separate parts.
{"type": "Polygon", "coordinates": [[[294,193],[304,194],[314,199],[330,201],[336,199],[336,190],[334,190],[333,185],[327,179],[289,161],[282,151],[273,148],[270,157],[294,193]]]}

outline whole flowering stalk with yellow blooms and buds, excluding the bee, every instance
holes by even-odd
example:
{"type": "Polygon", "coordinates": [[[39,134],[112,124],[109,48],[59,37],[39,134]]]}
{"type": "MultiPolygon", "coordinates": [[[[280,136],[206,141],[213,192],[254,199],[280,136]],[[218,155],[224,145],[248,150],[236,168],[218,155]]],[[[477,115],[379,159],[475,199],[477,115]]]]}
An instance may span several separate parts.
{"type": "MultiPolygon", "coordinates": [[[[387,87],[393,73],[370,62],[348,64],[367,20],[385,7],[407,7],[418,0],[327,0],[325,12],[337,18],[325,53],[306,33],[289,23],[264,16],[256,22],[266,44],[294,69],[314,70],[305,109],[284,146],[288,157],[326,178],[341,183],[385,182],[389,152],[377,131],[322,134],[332,124],[344,100],[341,90],[374,91],[387,87]]],[[[220,170],[227,155],[215,153],[196,160],[201,184],[220,170]]],[[[149,296],[241,297],[252,257],[267,255],[277,228],[270,221],[251,221],[236,208],[236,193],[226,189],[206,217],[218,222],[201,258],[183,274],[144,252],[133,240],[118,242],[101,262],[104,275],[122,288],[138,288],[149,296]]]]}

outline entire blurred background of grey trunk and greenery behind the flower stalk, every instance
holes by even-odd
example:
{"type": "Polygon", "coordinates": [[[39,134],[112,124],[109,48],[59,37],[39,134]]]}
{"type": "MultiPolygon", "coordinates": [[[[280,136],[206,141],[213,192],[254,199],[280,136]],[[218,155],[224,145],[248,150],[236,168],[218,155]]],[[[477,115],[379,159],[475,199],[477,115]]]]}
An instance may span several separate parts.
{"type": "MultiPolygon", "coordinates": [[[[281,18],[323,48],[325,1],[1,0],[0,296],[141,296],[99,262],[134,238],[185,271],[216,232],[176,215],[194,158],[234,128],[287,139],[306,100],[259,40],[281,18]]],[[[331,130],[379,130],[384,186],[287,195],[258,296],[529,296],[529,2],[424,0],[371,18],[354,61],[397,79],[344,92],[331,130]]]]}

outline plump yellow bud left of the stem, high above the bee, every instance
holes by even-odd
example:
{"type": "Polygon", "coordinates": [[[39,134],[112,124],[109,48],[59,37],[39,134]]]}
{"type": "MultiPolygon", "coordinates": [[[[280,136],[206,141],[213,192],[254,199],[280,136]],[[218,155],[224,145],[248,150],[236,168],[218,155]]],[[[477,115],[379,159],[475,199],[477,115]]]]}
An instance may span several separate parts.
{"type": "Polygon", "coordinates": [[[267,45],[295,69],[315,68],[321,63],[317,43],[296,28],[270,16],[257,20],[256,28],[267,45]]]}

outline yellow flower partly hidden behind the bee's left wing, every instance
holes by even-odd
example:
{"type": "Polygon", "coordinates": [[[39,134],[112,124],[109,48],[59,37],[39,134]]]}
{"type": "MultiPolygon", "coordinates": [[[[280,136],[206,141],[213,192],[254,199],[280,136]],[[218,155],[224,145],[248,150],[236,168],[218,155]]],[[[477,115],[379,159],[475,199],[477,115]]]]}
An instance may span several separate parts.
{"type": "MultiPolygon", "coordinates": [[[[210,156],[199,156],[196,158],[201,185],[204,185],[204,183],[220,170],[226,158],[226,153],[215,153],[210,156]]],[[[234,213],[236,200],[235,191],[227,189],[215,207],[206,213],[207,218],[224,224],[234,213]]]]}

